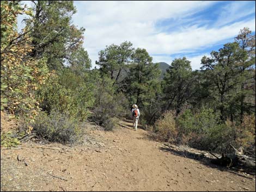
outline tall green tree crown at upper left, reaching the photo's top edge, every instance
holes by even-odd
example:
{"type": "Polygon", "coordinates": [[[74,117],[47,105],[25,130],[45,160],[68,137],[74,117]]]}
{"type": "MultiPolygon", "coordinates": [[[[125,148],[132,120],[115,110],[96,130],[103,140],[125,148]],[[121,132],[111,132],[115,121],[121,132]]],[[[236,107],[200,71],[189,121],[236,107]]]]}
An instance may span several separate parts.
{"type": "Polygon", "coordinates": [[[33,58],[47,58],[50,69],[59,70],[64,62],[74,61],[74,52],[81,48],[84,28],[71,22],[76,13],[73,1],[34,1],[33,16],[27,26],[32,27],[33,58]]]}

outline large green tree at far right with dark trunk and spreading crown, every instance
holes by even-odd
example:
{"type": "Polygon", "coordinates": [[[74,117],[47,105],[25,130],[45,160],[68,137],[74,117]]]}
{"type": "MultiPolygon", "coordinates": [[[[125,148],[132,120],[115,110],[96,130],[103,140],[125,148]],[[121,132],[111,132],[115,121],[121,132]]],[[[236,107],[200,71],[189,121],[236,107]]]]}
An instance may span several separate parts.
{"type": "Polygon", "coordinates": [[[236,85],[241,82],[241,70],[243,66],[241,61],[246,60],[248,55],[237,42],[225,44],[219,52],[212,51],[211,58],[202,58],[203,66],[201,69],[208,70],[205,73],[206,79],[211,85],[212,97],[216,101],[216,106],[220,109],[221,119],[224,121],[227,117],[235,115],[233,110],[227,113],[232,107],[232,100],[236,94],[236,85]]]}

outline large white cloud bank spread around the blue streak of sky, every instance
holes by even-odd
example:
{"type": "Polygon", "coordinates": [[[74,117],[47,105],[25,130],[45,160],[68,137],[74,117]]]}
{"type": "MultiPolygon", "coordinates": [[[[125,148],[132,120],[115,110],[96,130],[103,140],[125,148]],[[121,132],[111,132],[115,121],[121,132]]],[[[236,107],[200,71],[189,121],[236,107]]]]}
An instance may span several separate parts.
{"type": "MultiPolygon", "coordinates": [[[[192,26],[179,28],[178,31],[161,32],[161,27],[155,27],[157,21],[167,18],[182,20],[214,3],[212,1],[75,1],[78,11],[74,15],[74,23],[86,28],[84,47],[92,59],[93,66],[98,58],[97,53],[106,45],[119,45],[126,40],[131,41],[136,48],[147,49],[149,54],[170,55],[211,47],[225,39],[234,38],[243,27],[255,30],[255,18],[221,28],[216,26],[214,28],[214,25],[211,28],[192,26]]],[[[235,7],[231,13],[235,13],[237,9],[235,7]]],[[[153,58],[154,61],[168,64],[171,62],[167,56],[153,58]]]]}

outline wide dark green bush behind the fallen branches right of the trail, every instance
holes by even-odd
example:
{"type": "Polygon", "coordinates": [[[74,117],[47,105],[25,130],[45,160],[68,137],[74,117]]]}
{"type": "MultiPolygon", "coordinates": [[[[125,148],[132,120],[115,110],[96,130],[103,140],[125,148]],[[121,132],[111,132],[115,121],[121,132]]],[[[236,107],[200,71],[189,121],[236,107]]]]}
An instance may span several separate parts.
{"type": "Polygon", "coordinates": [[[234,128],[228,122],[222,123],[220,114],[210,108],[196,114],[186,110],[178,117],[178,126],[181,143],[201,150],[227,151],[234,141],[234,128]]]}

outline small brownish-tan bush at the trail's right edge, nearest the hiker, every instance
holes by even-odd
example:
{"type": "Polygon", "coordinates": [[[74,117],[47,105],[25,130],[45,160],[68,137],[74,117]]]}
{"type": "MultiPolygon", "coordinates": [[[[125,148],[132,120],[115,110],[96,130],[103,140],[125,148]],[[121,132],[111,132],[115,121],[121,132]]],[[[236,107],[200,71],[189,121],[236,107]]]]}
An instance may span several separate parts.
{"type": "Polygon", "coordinates": [[[157,140],[175,141],[177,130],[175,122],[175,112],[168,111],[163,114],[163,117],[155,122],[155,132],[157,140]]]}

